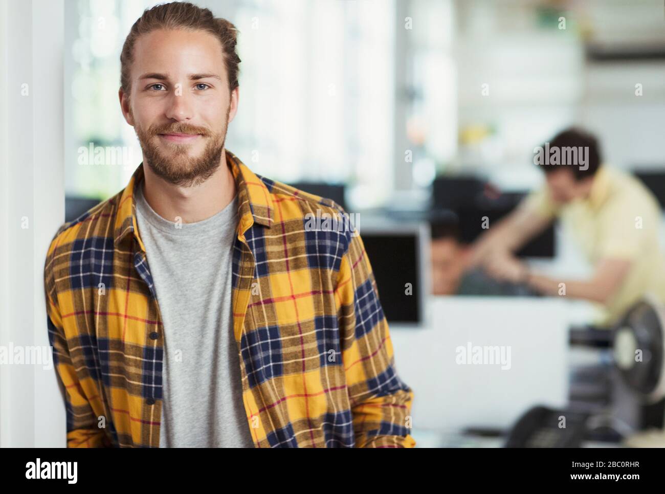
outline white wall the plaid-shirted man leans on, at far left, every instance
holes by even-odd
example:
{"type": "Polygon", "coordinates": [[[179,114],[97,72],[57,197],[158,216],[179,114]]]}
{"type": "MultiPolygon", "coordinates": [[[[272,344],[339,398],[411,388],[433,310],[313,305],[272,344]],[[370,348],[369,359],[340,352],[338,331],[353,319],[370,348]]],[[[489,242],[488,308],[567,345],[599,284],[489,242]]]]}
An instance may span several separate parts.
{"type": "Polygon", "coordinates": [[[66,444],[53,365],[13,358],[49,345],[44,259],[65,218],[63,9],[0,2],[0,447],[66,444]]]}

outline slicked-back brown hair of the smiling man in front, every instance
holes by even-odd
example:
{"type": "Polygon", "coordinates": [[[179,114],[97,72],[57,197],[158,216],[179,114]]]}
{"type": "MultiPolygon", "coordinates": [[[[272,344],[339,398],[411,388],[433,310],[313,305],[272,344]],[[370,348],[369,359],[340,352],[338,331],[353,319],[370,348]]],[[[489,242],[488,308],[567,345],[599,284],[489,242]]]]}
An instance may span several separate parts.
{"type": "Polygon", "coordinates": [[[120,53],[120,86],[129,94],[132,86],[129,78],[130,66],[134,61],[134,45],[141,35],[157,29],[186,29],[205,31],[219,39],[224,57],[226,72],[229,77],[229,90],[238,87],[238,64],[240,57],[235,51],[237,29],[226,19],[215,17],[209,9],[201,9],[192,3],[162,3],[146,9],[130,29],[122,53],[120,53]]]}

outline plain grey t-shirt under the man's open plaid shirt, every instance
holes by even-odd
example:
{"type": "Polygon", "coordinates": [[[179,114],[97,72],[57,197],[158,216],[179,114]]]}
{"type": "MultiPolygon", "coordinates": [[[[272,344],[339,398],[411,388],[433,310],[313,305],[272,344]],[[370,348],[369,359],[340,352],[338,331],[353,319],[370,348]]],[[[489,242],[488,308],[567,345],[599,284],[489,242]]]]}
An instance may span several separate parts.
{"type": "Polygon", "coordinates": [[[141,182],[136,215],[164,323],[160,447],[253,447],[231,312],[237,197],[178,224],[150,207],[141,182]]]}

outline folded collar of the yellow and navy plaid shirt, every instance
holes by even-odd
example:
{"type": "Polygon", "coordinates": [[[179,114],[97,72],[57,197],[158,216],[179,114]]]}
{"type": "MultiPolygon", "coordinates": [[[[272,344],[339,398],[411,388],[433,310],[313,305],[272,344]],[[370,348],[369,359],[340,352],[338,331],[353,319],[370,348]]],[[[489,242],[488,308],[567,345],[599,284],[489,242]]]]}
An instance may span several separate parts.
{"type": "MultiPolygon", "coordinates": [[[[263,184],[235,154],[225,150],[226,163],[231,169],[238,194],[238,238],[244,240],[245,231],[254,223],[270,228],[273,225],[273,201],[268,188],[263,184]]],[[[141,163],[129,184],[122,191],[118,215],[114,226],[114,245],[122,244],[127,235],[134,234],[142,251],[145,251],[143,242],[138,235],[136,226],[136,201],[134,201],[134,187],[144,178],[143,163],[141,163]]]]}

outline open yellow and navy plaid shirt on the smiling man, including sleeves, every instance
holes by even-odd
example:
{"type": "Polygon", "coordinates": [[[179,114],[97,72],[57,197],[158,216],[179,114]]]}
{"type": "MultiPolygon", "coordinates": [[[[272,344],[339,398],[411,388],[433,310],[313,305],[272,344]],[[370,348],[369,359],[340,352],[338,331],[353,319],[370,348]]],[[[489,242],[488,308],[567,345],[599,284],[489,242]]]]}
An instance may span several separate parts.
{"type": "MultiPolygon", "coordinates": [[[[413,447],[412,390],[357,231],[308,228],[336,203],[253,174],[238,193],[233,332],[255,447],[413,447]]],[[[49,339],[69,447],[158,447],[164,331],[127,187],[57,231],[45,263],[49,339]]]]}

